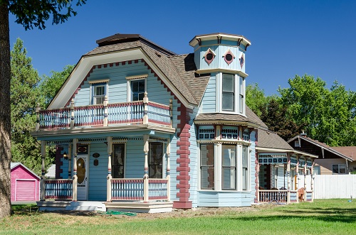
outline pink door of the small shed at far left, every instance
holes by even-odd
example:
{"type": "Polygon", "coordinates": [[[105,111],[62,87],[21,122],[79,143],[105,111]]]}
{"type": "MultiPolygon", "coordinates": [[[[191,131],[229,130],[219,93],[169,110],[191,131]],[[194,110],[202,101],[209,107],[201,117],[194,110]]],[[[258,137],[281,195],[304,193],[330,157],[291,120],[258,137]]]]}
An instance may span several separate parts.
{"type": "Polygon", "coordinates": [[[16,180],[15,201],[36,201],[36,180],[16,180]]]}

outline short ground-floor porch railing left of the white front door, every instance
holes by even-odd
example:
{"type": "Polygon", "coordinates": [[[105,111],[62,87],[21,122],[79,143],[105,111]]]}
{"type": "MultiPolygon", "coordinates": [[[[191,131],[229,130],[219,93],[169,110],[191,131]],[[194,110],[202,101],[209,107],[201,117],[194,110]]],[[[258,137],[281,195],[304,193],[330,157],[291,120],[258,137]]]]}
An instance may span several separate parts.
{"type": "Polygon", "coordinates": [[[45,180],[45,199],[71,200],[73,197],[73,180],[45,180]]]}

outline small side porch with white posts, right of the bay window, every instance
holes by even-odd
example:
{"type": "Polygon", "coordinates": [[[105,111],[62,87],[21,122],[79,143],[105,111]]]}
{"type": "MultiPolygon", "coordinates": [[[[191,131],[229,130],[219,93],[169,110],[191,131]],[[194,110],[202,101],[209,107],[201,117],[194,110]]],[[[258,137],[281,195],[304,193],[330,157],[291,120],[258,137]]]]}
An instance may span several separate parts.
{"type": "Polygon", "coordinates": [[[315,155],[300,151],[258,153],[256,202],[313,202],[315,155]],[[306,176],[311,175],[310,181],[306,176]]]}

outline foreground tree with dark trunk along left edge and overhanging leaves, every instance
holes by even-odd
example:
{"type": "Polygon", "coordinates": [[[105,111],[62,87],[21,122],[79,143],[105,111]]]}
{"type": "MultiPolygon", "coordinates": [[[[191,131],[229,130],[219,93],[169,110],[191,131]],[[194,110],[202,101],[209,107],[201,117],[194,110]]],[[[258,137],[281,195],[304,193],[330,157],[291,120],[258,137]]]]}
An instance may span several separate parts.
{"type": "MultiPolygon", "coordinates": [[[[77,6],[86,0],[78,0],[77,6]]],[[[45,28],[45,21],[52,17],[52,24],[63,23],[76,12],[68,0],[0,0],[0,218],[11,214],[11,116],[10,116],[10,38],[9,13],[16,16],[27,30],[45,28]]]]}

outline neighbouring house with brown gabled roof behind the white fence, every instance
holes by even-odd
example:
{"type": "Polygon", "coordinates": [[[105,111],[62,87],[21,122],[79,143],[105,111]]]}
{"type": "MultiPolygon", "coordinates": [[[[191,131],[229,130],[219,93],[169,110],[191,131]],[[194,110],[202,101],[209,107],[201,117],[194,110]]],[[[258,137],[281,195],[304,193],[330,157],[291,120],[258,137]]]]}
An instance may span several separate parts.
{"type": "Polygon", "coordinates": [[[356,146],[330,147],[305,133],[291,138],[288,143],[296,150],[318,155],[314,165],[317,175],[348,174],[356,170],[356,146]]]}

